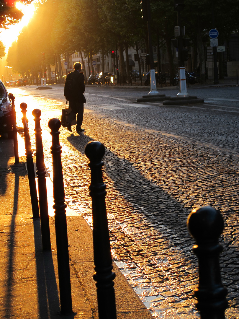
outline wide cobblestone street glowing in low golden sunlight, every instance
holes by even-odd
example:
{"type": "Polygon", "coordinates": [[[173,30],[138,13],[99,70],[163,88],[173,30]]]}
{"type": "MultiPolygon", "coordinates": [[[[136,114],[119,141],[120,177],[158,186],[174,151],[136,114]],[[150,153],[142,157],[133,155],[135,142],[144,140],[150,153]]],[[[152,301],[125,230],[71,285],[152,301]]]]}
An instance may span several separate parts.
{"type": "MultiPolygon", "coordinates": [[[[153,316],[167,319],[199,318],[193,297],[198,285],[195,241],[186,221],[194,207],[219,209],[225,224],[220,266],[228,288],[226,318],[239,318],[238,87],[189,90],[206,101],[197,107],[134,104],[148,92],[141,90],[86,88],[85,132],[79,136],[73,127],[72,133],[60,128],[66,202],[91,225],[84,147],[100,141],[106,148],[103,179],[115,262],[153,316]]],[[[45,164],[51,174],[47,123],[61,118],[65,101],[63,87],[48,91],[11,90],[16,108],[28,104],[33,145],[31,112],[42,111],[45,164]]]]}

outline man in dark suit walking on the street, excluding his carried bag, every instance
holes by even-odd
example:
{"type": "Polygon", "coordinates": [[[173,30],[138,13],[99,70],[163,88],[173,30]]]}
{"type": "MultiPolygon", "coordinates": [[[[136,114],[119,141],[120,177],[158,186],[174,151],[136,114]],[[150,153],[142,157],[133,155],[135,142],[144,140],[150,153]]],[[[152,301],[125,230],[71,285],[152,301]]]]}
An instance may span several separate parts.
{"type": "MultiPolygon", "coordinates": [[[[70,123],[74,120],[77,114],[77,124],[76,124],[76,132],[80,134],[84,129],[81,128],[83,122],[83,113],[84,113],[84,103],[85,97],[83,93],[85,92],[85,78],[84,74],[80,72],[81,63],[76,62],[74,64],[74,71],[70,72],[66,76],[66,83],[70,83],[71,92],[70,96],[67,96],[67,93],[64,93],[67,100],[69,100],[69,108],[71,108],[71,112],[68,116],[67,129],[72,132],[70,123]]],[[[68,90],[69,92],[69,90],[68,90]]]]}

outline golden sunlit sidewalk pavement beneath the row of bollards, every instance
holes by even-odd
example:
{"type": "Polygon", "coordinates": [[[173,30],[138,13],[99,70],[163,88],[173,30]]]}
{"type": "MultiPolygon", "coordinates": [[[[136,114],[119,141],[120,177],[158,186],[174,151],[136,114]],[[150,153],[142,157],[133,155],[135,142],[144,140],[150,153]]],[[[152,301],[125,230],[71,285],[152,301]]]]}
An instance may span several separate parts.
{"type": "MultiPolygon", "coordinates": [[[[47,184],[52,189],[49,178],[47,184]]],[[[67,227],[73,314],[60,315],[50,188],[48,193],[52,251],[42,252],[40,219],[32,218],[25,157],[20,156],[19,164],[15,165],[13,140],[0,137],[0,318],[97,319],[92,231],[86,221],[69,208],[67,227]]],[[[115,264],[113,271],[116,273],[117,318],[152,319],[115,264]]]]}

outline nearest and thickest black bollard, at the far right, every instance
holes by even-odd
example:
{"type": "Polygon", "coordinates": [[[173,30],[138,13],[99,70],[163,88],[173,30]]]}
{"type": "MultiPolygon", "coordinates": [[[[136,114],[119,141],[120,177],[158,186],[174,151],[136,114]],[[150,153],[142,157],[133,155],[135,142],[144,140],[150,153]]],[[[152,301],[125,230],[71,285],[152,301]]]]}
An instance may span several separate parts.
{"type": "Polygon", "coordinates": [[[223,218],[211,206],[198,207],[188,216],[187,226],[197,245],[193,252],[198,256],[199,286],[194,290],[195,304],[201,319],[224,319],[227,288],[221,283],[219,254],[222,251],[218,238],[223,231],[223,218]]]}

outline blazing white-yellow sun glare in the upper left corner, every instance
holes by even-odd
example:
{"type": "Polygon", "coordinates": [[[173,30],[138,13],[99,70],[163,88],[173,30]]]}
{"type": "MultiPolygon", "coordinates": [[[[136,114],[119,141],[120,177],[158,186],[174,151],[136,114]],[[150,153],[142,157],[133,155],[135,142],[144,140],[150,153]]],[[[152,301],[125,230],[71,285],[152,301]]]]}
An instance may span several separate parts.
{"type": "Polygon", "coordinates": [[[11,43],[13,41],[17,41],[18,35],[21,32],[22,28],[26,26],[29,20],[32,18],[33,13],[35,11],[34,3],[35,1],[26,5],[20,1],[15,3],[16,8],[22,11],[24,16],[22,17],[21,21],[19,21],[17,24],[9,26],[8,29],[0,30],[0,40],[3,42],[5,46],[6,53],[8,52],[8,49],[11,46],[11,43]]]}

